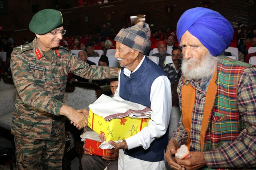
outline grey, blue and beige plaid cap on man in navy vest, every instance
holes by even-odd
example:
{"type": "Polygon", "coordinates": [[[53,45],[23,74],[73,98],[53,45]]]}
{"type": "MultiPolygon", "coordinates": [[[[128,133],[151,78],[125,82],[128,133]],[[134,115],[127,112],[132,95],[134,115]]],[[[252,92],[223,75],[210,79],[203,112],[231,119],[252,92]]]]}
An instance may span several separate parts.
{"type": "Polygon", "coordinates": [[[139,22],[134,26],[126,29],[121,29],[115,41],[124,44],[134,50],[147,54],[150,50],[151,41],[150,39],[150,28],[145,22],[139,22]]]}

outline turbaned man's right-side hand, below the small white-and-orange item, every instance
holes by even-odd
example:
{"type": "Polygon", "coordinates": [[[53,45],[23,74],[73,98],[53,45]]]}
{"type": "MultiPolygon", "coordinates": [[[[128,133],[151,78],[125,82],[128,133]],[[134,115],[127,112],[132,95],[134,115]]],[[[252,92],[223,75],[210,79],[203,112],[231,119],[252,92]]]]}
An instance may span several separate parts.
{"type": "Polygon", "coordinates": [[[175,158],[180,166],[184,167],[186,170],[196,170],[206,166],[205,156],[203,152],[190,152],[189,159],[177,159],[175,158]]]}

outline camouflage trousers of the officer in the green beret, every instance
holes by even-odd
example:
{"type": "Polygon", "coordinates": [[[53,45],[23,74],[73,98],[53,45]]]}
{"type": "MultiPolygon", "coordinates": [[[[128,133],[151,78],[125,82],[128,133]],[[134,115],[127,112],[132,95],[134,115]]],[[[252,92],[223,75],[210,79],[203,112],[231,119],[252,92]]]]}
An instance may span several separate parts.
{"type": "Polygon", "coordinates": [[[14,136],[17,170],[62,169],[65,132],[57,136],[53,129],[50,140],[14,136]]]}

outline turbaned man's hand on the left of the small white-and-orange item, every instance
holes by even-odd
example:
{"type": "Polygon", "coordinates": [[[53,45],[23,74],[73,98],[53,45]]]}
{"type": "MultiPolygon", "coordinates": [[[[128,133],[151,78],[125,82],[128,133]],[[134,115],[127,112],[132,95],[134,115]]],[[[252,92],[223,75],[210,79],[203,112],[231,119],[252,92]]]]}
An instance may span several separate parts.
{"type": "Polygon", "coordinates": [[[175,153],[177,152],[177,149],[179,148],[179,145],[177,142],[173,139],[171,139],[167,145],[166,149],[166,161],[169,163],[170,167],[174,170],[185,170],[184,167],[182,167],[180,164],[175,162],[175,153]]]}

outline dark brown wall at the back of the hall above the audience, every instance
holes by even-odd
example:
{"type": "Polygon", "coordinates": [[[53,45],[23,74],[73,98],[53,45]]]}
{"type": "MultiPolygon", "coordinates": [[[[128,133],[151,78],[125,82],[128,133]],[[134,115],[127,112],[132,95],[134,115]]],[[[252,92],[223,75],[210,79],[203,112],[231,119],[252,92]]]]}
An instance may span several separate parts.
{"type": "MultiPolygon", "coordinates": [[[[59,6],[63,7],[65,1],[74,7],[77,0],[58,0],[59,6]]],[[[204,0],[120,0],[106,4],[70,8],[61,10],[64,18],[64,27],[67,35],[96,34],[95,27],[102,27],[103,23],[109,22],[117,33],[122,26],[126,25],[127,16],[147,14],[148,23],[153,24],[155,29],[176,29],[177,21],[182,13],[189,8],[203,7],[204,0]],[[166,6],[173,6],[173,11],[168,15],[166,6]],[[106,19],[111,14],[111,20],[106,19]],[[85,22],[85,16],[89,21],[85,22]]],[[[256,25],[256,3],[249,6],[246,0],[210,0],[209,8],[220,12],[233,26],[243,23],[249,26],[256,25]]],[[[9,33],[13,38],[25,37],[32,39],[34,35],[29,30],[13,32],[14,30],[28,29],[28,24],[34,15],[32,5],[38,5],[38,10],[54,8],[54,1],[45,0],[11,0],[9,1],[9,14],[0,15],[0,26],[4,33],[9,33]],[[48,3],[45,3],[48,2],[48,3]],[[17,36],[19,33],[22,35],[17,36]]]]}

